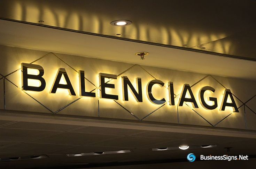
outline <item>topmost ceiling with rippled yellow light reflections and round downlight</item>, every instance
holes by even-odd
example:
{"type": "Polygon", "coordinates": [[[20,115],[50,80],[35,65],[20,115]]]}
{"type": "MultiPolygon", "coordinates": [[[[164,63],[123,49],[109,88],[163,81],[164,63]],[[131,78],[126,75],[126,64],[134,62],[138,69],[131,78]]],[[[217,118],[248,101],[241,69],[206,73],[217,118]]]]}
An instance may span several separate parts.
{"type": "Polygon", "coordinates": [[[255,0],[1,0],[0,17],[255,61],[255,8],[255,0]],[[132,24],[110,25],[120,19],[132,24]]]}

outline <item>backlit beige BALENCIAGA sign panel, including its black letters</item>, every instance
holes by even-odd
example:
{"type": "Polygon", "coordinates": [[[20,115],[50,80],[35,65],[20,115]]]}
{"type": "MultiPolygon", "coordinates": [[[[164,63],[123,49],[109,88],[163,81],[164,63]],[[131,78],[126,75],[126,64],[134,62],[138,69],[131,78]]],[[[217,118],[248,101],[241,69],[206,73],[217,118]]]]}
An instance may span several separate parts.
{"type": "Polygon", "coordinates": [[[0,55],[3,111],[256,130],[253,80],[2,45],[0,55]]]}

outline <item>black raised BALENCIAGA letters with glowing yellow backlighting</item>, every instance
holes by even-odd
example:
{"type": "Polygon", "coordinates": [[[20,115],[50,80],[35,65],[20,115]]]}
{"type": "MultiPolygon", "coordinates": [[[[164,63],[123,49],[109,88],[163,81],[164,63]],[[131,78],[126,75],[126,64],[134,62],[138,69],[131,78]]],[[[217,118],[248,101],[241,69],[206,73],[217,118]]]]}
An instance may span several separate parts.
{"type": "MultiPolygon", "coordinates": [[[[27,63],[22,63],[21,64],[22,68],[22,90],[25,91],[43,91],[45,90],[46,86],[46,81],[43,78],[44,75],[44,68],[40,65],[36,64],[27,64],[27,63]],[[30,74],[28,73],[29,69],[35,69],[38,71],[38,74],[30,74]],[[40,82],[40,85],[38,86],[32,86],[29,85],[28,81],[29,79],[33,79],[36,81],[40,82]]],[[[79,95],[80,96],[89,96],[89,97],[96,97],[96,94],[94,92],[86,92],[86,86],[85,86],[85,72],[83,70],[79,70],[79,95]]],[[[117,79],[117,75],[114,74],[107,74],[107,73],[99,73],[99,84],[100,84],[100,98],[106,98],[106,99],[113,99],[113,100],[118,100],[119,96],[118,95],[113,95],[109,94],[106,92],[107,88],[112,88],[113,90],[115,89],[115,84],[112,84],[111,81],[117,79]],[[106,82],[106,79],[108,80],[106,82]]],[[[145,82],[143,82],[145,83],[145,82]]],[[[143,102],[142,98],[142,81],[140,77],[136,78],[136,84],[137,86],[134,87],[130,81],[130,79],[127,76],[122,76],[122,92],[123,92],[123,100],[124,101],[129,101],[128,97],[128,87],[130,88],[135,100],[137,102],[143,102]]],[[[154,79],[149,82],[147,82],[147,87],[146,87],[146,94],[147,94],[147,99],[152,102],[153,104],[164,104],[166,102],[169,102],[169,105],[178,105],[178,106],[183,106],[184,102],[190,102],[192,103],[194,108],[199,108],[198,104],[196,102],[196,99],[194,97],[194,93],[191,90],[191,87],[189,84],[184,84],[183,89],[181,91],[180,99],[178,103],[174,102],[174,98],[176,97],[174,95],[174,83],[173,82],[168,82],[168,94],[169,94],[169,100],[166,100],[166,98],[162,99],[156,99],[154,97],[154,93],[152,92],[152,88],[154,85],[159,85],[160,87],[164,86],[164,82],[159,80],[159,79],[154,79]],[[186,94],[189,93],[190,98],[186,96],[186,94]]],[[[50,93],[56,93],[57,88],[63,88],[67,89],[70,93],[70,95],[76,96],[77,94],[75,93],[75,90],[73,89],[72,83],[70,81],[70,78],[67,74],[67,71],[64,68],[59,68],[54,83],[52,85],[50,93]],[[66,84],[62,84],[61,78],[64,77],[66,84]]],[[[204,93],[205,91],[211,91],[212,93],[215,92],[215,89],[211,86],[204,86],[202,87],[198,94],[199,94],[199,102],[200,104],[208,110],[214,110],[218,107],[217,103],[217,98],[214,97],[209,97],[208,100],[211,101],[213,104],[209,105],[207,102],[204,100],[204,93]]],[[[224,111],[226,107],[232,107],[234,112],[239,112],[238,107],[235,103],[235,100],[233,98],[233,95],[229,89],[225,89],[224,95],[222,98],[222,104],[220,106],[220,110],[224,111]],[[228,101],[228,98],[230,98],[230,101],[228,101]]]]}

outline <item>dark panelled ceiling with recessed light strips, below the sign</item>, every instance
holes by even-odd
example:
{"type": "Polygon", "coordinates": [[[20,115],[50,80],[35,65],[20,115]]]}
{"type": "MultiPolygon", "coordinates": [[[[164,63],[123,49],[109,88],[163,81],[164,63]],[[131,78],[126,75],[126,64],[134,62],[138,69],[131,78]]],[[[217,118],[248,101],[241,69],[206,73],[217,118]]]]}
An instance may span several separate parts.
{"type": "Polygon", "coordinates": [[[1,168],[40,168],[71,164],[184,159],[192,151],[195,154],[223,155],[227,153],[225,147],[232,147],[228,152],[229,155],[251,155],[256,152],[255,138],[8,120],[0,120],[0,124],[0,158],[43,154],[48,156],[45,159],[1,162],[1,168]],[[151,150],[156,147],[208,144],[217,144],[217,147],[191,150],[151,150]],[[131,150],[131,152],[82,157],[65,155],[115,150],[131,150]]]}

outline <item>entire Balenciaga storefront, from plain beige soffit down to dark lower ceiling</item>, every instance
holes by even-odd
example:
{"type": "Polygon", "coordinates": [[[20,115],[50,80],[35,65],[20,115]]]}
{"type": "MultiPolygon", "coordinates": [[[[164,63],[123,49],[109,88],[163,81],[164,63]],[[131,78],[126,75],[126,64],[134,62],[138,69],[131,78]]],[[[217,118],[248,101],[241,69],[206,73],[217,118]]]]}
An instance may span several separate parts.
{"type": "Polygon", "coordinates": [[[21,21],[0,20],[0,168],[255,165],[253,58],[21,21]]]}

